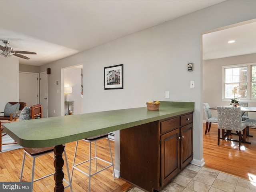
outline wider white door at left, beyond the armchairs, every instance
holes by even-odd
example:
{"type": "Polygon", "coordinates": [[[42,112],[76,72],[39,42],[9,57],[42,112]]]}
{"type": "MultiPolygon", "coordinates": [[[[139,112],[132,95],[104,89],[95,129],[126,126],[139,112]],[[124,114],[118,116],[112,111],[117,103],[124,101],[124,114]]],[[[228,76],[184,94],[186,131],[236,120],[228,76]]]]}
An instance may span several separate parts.
{"type": "Polygon", "coordinates": [[[27,106],[39,103],[39,74],[19,72],[19,101],[26,102],[27,106]]]}

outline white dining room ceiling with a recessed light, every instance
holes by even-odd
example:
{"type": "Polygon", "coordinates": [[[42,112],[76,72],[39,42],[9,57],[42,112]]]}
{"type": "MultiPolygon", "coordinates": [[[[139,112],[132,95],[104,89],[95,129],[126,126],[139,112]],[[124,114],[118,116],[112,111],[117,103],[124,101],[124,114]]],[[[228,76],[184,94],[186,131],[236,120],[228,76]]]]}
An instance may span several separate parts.
{"type": "Polygon", "coordinates": [[[256,53],[256,21],[203,35],[203,60],[256,53]],[[235,40],[234,43],[228,43],[235,40]]]}

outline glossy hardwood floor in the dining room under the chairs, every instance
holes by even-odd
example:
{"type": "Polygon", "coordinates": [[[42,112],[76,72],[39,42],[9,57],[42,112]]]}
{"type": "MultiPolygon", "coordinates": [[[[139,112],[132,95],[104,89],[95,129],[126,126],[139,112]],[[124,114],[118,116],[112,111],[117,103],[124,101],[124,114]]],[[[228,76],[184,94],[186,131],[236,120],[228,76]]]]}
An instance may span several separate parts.
{"type": "MultiPolygon", "coordinates": [[[[238,142],[220,140],[218,142],[218,126],[212,124],[210,132],[204,134],[205,123],[203,124],[203,156],[205,167],[225,172],[245,180],[256,181],[256,129],[249,128],[249,134],[253,137],[247,137],[246,141],[251,144],[241,145],[238,150],[238,142]]],[[[238,139],[237,135],[231,137],[238,139]]]]}

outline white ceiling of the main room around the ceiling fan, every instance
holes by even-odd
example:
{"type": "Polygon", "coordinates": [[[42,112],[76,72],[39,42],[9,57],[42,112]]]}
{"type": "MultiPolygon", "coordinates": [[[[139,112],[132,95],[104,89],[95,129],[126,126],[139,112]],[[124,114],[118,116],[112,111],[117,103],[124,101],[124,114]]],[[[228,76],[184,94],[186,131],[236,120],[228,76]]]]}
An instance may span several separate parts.
{"type": "Polygon", "coordinates": [[[40,66],[223,1],[1,0],[0,40],[40,66]]]}

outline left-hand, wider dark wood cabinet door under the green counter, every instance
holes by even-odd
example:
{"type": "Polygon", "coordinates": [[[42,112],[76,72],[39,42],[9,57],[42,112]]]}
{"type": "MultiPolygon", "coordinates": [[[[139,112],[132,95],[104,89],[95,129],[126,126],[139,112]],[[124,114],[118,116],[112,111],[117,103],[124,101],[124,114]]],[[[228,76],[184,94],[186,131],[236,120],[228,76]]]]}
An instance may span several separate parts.
{"type": "Polygon", "coordinates": [[[180,172],[179,129],[161,136],[161,186],[180,172]]]}

